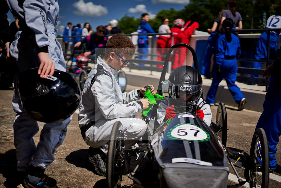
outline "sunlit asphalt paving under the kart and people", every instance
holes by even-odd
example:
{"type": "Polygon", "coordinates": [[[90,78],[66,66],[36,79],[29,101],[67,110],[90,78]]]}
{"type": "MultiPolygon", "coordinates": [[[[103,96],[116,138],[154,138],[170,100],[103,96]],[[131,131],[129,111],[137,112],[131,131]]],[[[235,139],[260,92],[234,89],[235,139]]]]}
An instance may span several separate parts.
{"type": "MultiPolygon", "coordinates": [[[[128,90],[139,87],[127,86],[128,90]]],[[[16,171],[15,147],[13,144],[13,120],[15,113],[12,107],[13,90],[0,90],[0,187],[16,187],[18,173],[16,171]]],[[[211,107],[213,122],[216,118],[217,106],[211,107]]],[[[227,146],[250,153],[250,144],[260,112],[227,107],[228,138],[227,146]]],[[[39,122],[39,128],[44,124],[39,122]]],[[[34,136],[39,141],[39,132],[34,136]]],[[[270,174],[269,187],[281,187],[281,148],[277,145],[277,169],[270,174]]],[[[243,175],[243,169],[237,169],[243,175]]],[[[88,161],[88,146],[82,139],[78,126],[78,114],[74,113],[68,125],[66,138],[55,152],[54,162],[46,169],[48,176],[57,180],[58,187],[106,187],[105,177],[96,175],[88,161]]],[[[228,176],[228,185],[235,184],[237,178],[232,170],[228,176]]],[[[210,175],[212,176],[212,175],[210,175]]],[[[216,178],[216,177],[214,177],[216,178]]],[[[242,176],[243,178],[243,176],[242,176]]],[[[131,187],[133,181],[124,176],[122,187],[131,187]]],[[[247,186],[247,185],[246,185],[247,186]]]]}

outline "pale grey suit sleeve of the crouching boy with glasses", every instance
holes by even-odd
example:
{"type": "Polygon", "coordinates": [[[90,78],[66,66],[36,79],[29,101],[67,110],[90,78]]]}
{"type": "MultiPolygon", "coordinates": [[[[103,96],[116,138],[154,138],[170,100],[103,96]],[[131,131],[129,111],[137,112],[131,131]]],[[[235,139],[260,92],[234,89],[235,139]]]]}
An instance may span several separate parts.
{"type": "Polygon", "coordinates": [[[129,102],[130,100],[136,99],[136,94],[134,92],[137,91],[126,94],[126,98],[123,101],[116,101],[111,77],[107,75],[100,75],[97,77],[91,89],[95,101],[106,119],[129,117],[142,110],[142,107],[136,101],[129,102]],[[126,104],[124,103],[125,101],[126,104]]]}

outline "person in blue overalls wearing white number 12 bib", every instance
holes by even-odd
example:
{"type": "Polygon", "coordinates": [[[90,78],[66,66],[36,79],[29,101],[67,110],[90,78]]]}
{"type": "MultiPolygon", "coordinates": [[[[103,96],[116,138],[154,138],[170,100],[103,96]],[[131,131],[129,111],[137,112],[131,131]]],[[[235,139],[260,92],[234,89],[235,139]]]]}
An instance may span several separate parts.
{"type": "MultiPolygon", "coordinates": [[[[281,6],[275,9],[275,14],[267,19],[266,28],[281,28],[281,6]]],[[[270,32],[269,59],[274,60],[277,57],[277,42],[280,32],[270,32]]],[[[257,60],[265,60],[267,58],[267,32],[263,32],[257,42],[256,55],[257,60]]],[[[262,62],[254,62],[253,68],[260,69],[262,62]]],[[[251,74],[251,77],[258,78],[258,75],[251,74]]],[[[254,85],[254,84],[253,84],[254,85]]]]}

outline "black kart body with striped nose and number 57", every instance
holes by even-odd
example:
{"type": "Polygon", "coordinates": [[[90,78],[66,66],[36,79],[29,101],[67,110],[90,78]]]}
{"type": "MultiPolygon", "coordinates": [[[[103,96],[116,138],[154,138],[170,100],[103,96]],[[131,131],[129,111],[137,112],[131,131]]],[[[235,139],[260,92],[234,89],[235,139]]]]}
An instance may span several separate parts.
{"type": "Polygon", "coordinates": [[[148,135],[162,186],[226,187],[229,167],[223,145],[201,118],[180,113],[151,130],[148,135]]]}

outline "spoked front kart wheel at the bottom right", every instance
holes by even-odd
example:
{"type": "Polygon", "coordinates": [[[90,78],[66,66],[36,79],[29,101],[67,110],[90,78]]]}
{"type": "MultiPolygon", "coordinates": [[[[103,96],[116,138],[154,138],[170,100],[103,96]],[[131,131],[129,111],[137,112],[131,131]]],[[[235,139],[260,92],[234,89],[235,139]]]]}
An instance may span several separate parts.
{"type": "Polygon", "coordinates": [[[250,149],[250,187],[268,187],[269,152],[265,131],[258,128],[253,136],[250,149]]]}

